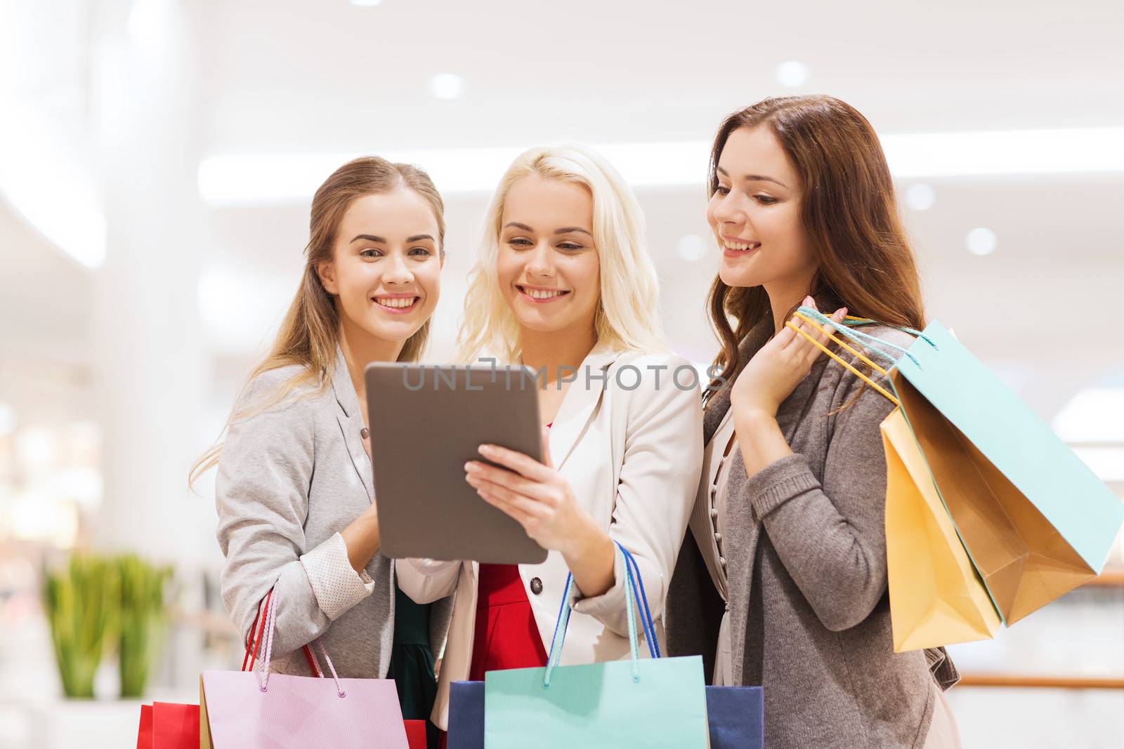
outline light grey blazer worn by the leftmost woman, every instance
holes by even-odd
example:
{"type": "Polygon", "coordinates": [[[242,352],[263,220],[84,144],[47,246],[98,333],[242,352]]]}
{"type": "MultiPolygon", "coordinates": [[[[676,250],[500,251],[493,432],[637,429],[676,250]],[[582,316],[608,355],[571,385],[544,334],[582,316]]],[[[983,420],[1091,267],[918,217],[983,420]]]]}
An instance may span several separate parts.
{"type": "MultiPolygon", "coordinates": [[[[374,497],[359,398],[337,349],[334,375],[230,424],[215,502],[226,557],[223,601],[245,641],[259,603],[274,588],[275,668],[309,675],[299,648],[316,638],[342,677],[384,677],[395,624],[395,566],[375,554],[364,576],[346,559],[338,531],[374,497]]],[[[261,404],[299,366],[253,380],[235,412],[261,404]]],[[[430,645],[439,654],[451,601],[434,604],[430,645]]]]}

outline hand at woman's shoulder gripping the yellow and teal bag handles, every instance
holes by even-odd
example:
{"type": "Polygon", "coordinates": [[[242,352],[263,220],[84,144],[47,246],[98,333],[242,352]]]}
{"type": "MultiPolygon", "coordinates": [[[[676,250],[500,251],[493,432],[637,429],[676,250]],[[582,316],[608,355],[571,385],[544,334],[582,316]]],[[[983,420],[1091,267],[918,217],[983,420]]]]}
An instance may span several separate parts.
{"type": "MultiPolygon", "coordinates": [[[[805,298],[804,303],[813,309],[816,307],[810,296],[805,298]]],[[[835,311],[832,320],[839,323],[845,316],[844,307],[835,311]]],[[[799,327],[819,342],[827,341],[825,335],[807,322],[800,322],[799,327]]],[[[781,328],[737,375],[729,391],[731,408],[745,414],[776,417],[780,404],[792,394],[821,354],[819,348],[804,336],[788,326],[781,328]]]]}

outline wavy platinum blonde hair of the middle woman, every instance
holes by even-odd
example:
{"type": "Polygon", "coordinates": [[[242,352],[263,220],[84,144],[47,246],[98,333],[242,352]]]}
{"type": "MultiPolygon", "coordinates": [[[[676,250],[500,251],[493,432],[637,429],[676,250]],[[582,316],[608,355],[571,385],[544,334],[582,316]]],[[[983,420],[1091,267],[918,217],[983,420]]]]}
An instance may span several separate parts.
{"type": "Polygon", "coordinates": [[[599,344],[624,350],[667,351],[659,319],[660,281],[644,246],[644,217],[628,184],[597,152],[578,145],[543,146],[520,154],[500,180],[477,262],[469,273],[456,360],[483,354],[517,362],[519,321],[499,289],[496,262],[504,205],[511,185],[537,174],[580,184],[593,199],[593,241],[600,262],[600,300],[593,317],[599,344]]]}

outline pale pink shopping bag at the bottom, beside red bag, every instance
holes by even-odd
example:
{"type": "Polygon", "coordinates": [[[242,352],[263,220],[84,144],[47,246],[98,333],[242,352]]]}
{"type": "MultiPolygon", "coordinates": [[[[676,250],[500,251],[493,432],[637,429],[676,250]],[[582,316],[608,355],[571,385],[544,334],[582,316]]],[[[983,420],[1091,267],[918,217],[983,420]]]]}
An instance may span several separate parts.
{"type": "MultiPolygon", "coordinates": [[[[320,678],[270,673],[278,603],[271,592],[262,613],[262,670],[203,672],[199,677],[200,749],[380,747],[409,749],[398,691],[391,679],[339,678],[317,646],[332,678],[324,678],[311,649],[305,655],[320,678]]],[[[256,638],[255,638],[256,639],[256,638]]],[[[256,646],[253,648],[256,656],[256,646]]]]}

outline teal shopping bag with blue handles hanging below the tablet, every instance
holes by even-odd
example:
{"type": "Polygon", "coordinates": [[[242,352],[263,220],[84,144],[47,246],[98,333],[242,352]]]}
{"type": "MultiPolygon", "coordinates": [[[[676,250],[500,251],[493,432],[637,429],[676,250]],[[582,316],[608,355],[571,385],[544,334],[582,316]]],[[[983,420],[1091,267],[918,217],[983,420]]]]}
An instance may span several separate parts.
{"type": "Polygon", "coordinates": [[[573,583],[568,578],[546,667],[484,675],[486,749],[707,747],[703,659],[640,658],[634,603],[653,655],[659,654],[655,631],[647,602],[637,588],[643,582],[638,570],[633,573],[635,561],[624,547],[620,552],[627,570],[632,657],[586,666],[559,665],[570,619],[569,592],[573,583]]]}

